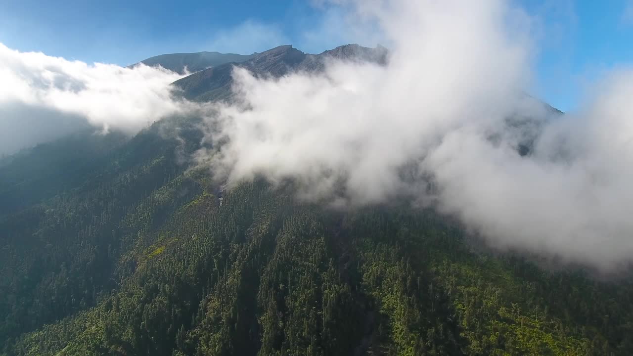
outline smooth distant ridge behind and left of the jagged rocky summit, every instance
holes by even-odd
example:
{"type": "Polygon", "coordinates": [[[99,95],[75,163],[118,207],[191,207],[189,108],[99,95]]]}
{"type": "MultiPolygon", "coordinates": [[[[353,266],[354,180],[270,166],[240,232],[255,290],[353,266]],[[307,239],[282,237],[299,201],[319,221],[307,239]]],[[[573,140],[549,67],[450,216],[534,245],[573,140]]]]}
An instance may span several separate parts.
{"type": "MultiPolygon", "coordinates": [[[[151,67],[158,67],[160,65],[172,72],[185,74],[185,69],[189,73],[199,72],[200,70],[205,70],[210,67],[218,67],[218,65],[226,63],[241,63],[253,58],[256,54],[257,53],[235,54],[219,52],[171,53],[147,58],[139,63],[144,63],[145,65],[149,65],[151,67]]],[[[135,63],[134,65],[139,63],[135,63]]],[[[134,67],[134,65],[129,67],[134,67]]]]}

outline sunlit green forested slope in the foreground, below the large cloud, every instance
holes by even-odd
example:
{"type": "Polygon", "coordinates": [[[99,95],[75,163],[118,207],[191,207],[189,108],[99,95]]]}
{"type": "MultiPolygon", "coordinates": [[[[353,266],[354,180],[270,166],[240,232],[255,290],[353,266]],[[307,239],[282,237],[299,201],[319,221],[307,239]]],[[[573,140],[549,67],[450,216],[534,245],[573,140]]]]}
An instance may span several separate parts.
{"type": "Polygon", "coordinates": [[[631,350],[630,284],[473,253],[458,229],[404,206],[329,212],[263,182],[242,184],[220,205],[204,176],[177,177],[123,219],[141,229],[116,262],[116,291],[99,296],[95,308],[25,334],[8,353],[631,350]],[[187,181],[198,193],[173,200],[187,181]],[[165,207],[171,213],[154,220],[165,207]]]}

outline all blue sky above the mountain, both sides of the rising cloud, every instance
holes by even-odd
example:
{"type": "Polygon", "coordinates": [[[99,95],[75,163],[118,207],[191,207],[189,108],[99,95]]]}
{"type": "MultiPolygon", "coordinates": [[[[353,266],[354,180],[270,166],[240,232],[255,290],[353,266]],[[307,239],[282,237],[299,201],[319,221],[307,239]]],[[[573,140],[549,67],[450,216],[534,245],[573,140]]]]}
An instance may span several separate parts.
{"type": "MultiPolygon", "coordinates": [[[[534,91],[551,105],[573,110],[601,73],[633,63],[633,1],[520,4],[540,22],[534,91]]],[[[354,41],[335,26],[311,36],[326,15],[336,18],[335,10],[326,14],[296,0],[0,0],[0,42],[20,51],[128,65],[162,53],[252,53],[279,44],[319,53],[354,41]]]]}

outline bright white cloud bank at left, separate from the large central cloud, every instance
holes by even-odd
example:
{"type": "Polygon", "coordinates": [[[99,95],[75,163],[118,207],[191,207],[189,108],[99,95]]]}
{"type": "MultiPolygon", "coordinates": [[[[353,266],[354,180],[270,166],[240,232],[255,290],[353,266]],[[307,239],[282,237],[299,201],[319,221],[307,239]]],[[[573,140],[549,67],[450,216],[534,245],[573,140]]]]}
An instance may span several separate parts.
{"type": "Polygon", "coordinates": [[[182,110],[160,68],[122,68],[22,53],[0,44],[0,154],[81,127],[134,134],[182,110]]]}

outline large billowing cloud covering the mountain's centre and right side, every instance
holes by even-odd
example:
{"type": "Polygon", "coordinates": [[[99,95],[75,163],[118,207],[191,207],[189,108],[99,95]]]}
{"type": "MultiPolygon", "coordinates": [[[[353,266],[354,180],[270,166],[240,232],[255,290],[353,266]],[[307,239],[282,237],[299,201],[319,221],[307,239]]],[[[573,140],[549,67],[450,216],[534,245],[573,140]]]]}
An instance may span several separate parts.
{"type": "Polygon", "coordinates": [[[234,71],[199,160],[230,182],[294,179],[301,198],[408,198],[459,217],[491,246],[611,270],[633,256],[633,72],[577,113],[522,94],[534,19],[505,1],[346,3],[390,41],[386,67],[323,75],[234,71]],[[529,144],[529,155],[520,146],[529,144]]]}

